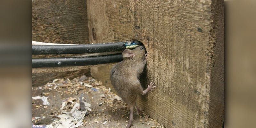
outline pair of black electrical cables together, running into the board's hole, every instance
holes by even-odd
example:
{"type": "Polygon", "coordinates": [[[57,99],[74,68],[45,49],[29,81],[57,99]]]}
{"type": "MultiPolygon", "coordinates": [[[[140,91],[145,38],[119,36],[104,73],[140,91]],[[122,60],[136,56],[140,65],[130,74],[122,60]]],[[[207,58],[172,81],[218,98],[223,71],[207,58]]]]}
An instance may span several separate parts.
{"type": "Polygon", "coordinates": [[[32,41],[32,54],[34,55],[83,54],[75,57],[32,59],[32,68],[88,66],[119,62],[122,61],[123,50],[133,49],[139,45],[141,45],[139,41],[102,44],[52,44],[32,41]]]}

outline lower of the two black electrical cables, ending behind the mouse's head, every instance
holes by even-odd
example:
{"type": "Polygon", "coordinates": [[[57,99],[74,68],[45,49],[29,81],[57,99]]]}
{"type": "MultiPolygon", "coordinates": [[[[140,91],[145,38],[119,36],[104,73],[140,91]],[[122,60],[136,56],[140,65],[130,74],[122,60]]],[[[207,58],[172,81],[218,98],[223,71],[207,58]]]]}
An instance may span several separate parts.
{"type": "Polygon", "coordinates": [[[123,60],[122,54],[94,56],[94,57],[32,59],[32,68],[87,66],[87,65],[114,63],[122,60],[123,60]]]}

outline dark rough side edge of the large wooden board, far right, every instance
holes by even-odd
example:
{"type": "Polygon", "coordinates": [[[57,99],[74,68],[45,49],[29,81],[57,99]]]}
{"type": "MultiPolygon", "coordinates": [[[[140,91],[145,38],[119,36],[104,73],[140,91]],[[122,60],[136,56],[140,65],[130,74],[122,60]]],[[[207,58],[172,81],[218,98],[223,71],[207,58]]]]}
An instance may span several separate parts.
{"type": "Polygon", "coordinates": [[[213,66],[211,67],[211,88],[209,105],[209,127],[224,127],[224,2],[212,1],[213,24],[211,35],[214,37],[213,66]],[[223,122],[223,123],[222,123],[223,122]]]}

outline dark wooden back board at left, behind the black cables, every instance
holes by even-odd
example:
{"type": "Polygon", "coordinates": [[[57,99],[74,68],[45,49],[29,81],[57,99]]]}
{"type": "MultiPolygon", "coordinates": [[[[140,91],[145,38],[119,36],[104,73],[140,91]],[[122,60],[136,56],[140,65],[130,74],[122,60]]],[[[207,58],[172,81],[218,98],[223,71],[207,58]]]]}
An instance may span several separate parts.
{"type": "MultiPolygon", "coordinates": [[[[87,44],[87,5],[85,0],[32,1],[32,40],[61,44],[87,44]]],[[[73,55],[66,55],[73,56],[73,55]]],[[[63,55],[32,55],[32,58],[63,57],[63,55]]],[[[76,68],[82,69],[82,68],[76,68]]],[[[74,70],[74,69],[72,69],[74,70]]],[[[43,70],[49,72],[49,70],[43,70]]],[[[76,77],[88,69],[71,71],[51,70],[51,73],[33,73],[32,85],[43,85],[61,77],[76,77]],[[60,72],[65,71],[65,72],[60,72]],[[68,72],[69,71],[69,72],[68,72]]],[[[33,72],[33,70],[32,70],[33,72]]]]}

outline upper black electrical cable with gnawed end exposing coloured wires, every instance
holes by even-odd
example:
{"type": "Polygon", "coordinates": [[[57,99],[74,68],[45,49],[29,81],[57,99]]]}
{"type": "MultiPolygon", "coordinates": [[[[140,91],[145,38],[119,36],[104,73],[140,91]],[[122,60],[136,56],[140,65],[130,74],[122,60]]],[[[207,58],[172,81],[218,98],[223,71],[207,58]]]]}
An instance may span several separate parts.
{"type": "Polygon", "coordinates": [[[32,45],[32,54],[80,54],[123,51],[127,46],[140,45],[139,41],[104,44],[32,45]]]}

